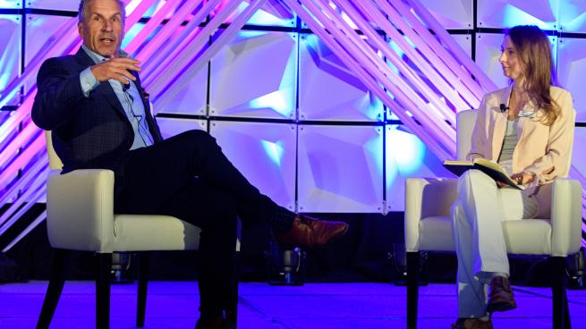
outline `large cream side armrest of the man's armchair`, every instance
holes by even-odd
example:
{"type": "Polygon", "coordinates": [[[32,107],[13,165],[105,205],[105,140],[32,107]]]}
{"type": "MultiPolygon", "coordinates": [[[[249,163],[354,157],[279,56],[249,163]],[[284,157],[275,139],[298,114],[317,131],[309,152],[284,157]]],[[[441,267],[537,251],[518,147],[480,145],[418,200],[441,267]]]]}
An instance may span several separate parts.
{"type": "Polygon", "coordinates": [[[83,169],[49,173],[47,233],[54,248],[112,252],[114,172],[83,169]]]}

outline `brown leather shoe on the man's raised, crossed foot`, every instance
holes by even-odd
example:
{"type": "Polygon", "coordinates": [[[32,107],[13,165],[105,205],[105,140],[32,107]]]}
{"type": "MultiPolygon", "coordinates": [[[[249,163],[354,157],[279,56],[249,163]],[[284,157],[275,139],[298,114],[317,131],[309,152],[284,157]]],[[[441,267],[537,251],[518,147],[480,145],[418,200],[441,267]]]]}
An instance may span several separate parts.
{"type": "Polygon", "coordinates": [[[275,233],[275,240],[282,246],[316,247],[326,244],[348,231],[348,224],[319,221],[306,215],[297,215],[291,231],[275,233]]]}

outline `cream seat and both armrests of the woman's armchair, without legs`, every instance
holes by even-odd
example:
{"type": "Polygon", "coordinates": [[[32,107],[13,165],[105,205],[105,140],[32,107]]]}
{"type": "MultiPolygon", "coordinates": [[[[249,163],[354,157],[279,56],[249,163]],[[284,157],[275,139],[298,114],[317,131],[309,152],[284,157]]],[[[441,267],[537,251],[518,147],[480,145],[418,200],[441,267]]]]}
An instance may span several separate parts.
{"type": "MultiPolygon", "coordinates": [[[[447,203],[455,199],[455,180],[408,179],[406,182],[405,247],[409,252],[454,251],[447,203]],[[450,191],[451,190],[451,191],[450,191]]],[[[507,252],[565,257],[580,249],[582,187],[570,179],[553,182],[551,219],[503,223],[507,252]]]]}

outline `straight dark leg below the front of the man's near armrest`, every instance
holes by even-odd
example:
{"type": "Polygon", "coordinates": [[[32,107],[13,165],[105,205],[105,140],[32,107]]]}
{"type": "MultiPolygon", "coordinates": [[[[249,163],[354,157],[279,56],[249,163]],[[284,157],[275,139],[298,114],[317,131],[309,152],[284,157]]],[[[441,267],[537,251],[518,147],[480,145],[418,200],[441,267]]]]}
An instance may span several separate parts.
{"type": "Polygon", "coordinates": [[[96,276],[96,329],[110,327],[110,271],[112,253],[98,254],[98,275],[96,276]]]}

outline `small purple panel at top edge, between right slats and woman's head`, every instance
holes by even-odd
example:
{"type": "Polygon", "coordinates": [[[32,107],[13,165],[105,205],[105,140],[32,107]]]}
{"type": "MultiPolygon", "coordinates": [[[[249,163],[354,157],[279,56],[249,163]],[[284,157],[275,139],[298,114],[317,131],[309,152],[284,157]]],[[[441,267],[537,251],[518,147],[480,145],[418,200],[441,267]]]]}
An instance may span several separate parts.
{"type": "Polygon", "coordinates": [[[420,0],[444,29],[473,29],[472,0],[420,0]]]}

